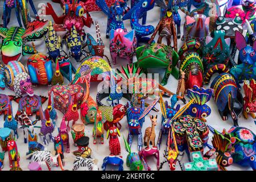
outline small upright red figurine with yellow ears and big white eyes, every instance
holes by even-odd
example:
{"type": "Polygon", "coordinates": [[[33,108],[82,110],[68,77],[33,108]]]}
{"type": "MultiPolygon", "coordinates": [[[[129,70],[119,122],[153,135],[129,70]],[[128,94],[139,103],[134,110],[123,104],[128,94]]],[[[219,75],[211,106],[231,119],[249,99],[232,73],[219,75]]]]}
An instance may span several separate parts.
{"type": "Polygon", "coordinates": [[[110,127],[107,132],[107,139],[109,139],[109,150],[110,155],[120,155],[121,154],[121,148],[118,136],[120,137],[120,132],[117,127],[113,126],[110,127]]]}

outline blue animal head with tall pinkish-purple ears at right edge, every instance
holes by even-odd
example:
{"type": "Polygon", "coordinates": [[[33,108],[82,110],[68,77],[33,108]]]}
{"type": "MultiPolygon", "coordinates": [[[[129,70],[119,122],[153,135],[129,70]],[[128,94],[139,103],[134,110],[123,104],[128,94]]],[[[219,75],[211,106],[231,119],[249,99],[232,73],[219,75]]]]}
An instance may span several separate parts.
{"type": "Polygon", "coordinates": [[[236,45],[239,50],[238,54],[238,64],[254,64],[256,61],[256,42],[253,43],[253,47],[246,44],[245,37],[241,32],[236,31],[236,45]]]}

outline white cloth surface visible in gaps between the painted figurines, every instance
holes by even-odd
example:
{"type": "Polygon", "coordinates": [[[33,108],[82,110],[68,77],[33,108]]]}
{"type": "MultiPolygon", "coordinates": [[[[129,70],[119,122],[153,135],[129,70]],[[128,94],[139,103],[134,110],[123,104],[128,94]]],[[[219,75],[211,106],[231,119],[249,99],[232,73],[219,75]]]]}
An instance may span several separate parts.
{"type": "MultiPolygon", "coordinates": [[[[41,3],[47,3],[47,2],[50,2],[52,4],[53,9],[56,11],[57,15],[61,15],[63,13],[63,11],[62,11],[62,9],[61,9],[61,7],[58,3],[53,3],[50,0],[47,0],[47,1],[38,1],[38,0],[35,1],[34,0],[34,3],[35,3],[35,6],[36,6],[37,10],[39,10],[40,6],[42,6],[41,3]]],[[[130,1],[129,1],[129,5],[130,5],[130,1]]],[[[1,1],[0,6],[1,6],[0,7],[0,15],[2,17],[3,1],[1,1]]],[[[30,7],[30,5],[28,5],[28,6],[30,7]]],[[[30,13],[32,15],[32,18],[34,19],[34,13],[32,12],[31,7],[30,7],[30,13]]],[[[155,5],[153,10],[148,11],[147,24],[152,24],[153,26],[156,27],[156,25],[159,22],[159,14],[160,14],[160,7],[155,5]]],[[[102,13],[101,11],[90,13],[90,15],[92,15],[92,18],[93,18],[94,21],[97,20],[99,22],[100,30],[101,30],[101,36],[102,36],[103,42],[105,44],[105,54],[108,55],[109,58],[110,58],[109,39],[105,38],[107,16],[104,13],[102,13]]],[[[182,35],[183,34],[183,23],[184,23],[185,15],[181,12],[180,12],[180,15],[181,15],[181,35],[182,35]]],[[[41,18],[52,20],[51,16],[44,16],[44,17],[41,16],[41,18]]],[[[3,23],[2,18],[0,19],[0,21],[1,21],[0,23],[2,24],[3,23]]],[[[128,31],[131,30],[130,20],[125,20],[124,23],[125,23],[125,27],[127,28],[127,30],[128,31]]],[[[10,23],[8,24],[8,27],[11,27],[11,26],[18,26],[18,22],[16,21],[16,16],[15,16],[14,10],[11,14],[10,23]]],[[[85,27],[85,32],[89,32],[90,34],[92,34],[94,36],[94,38],[96,38],[95,24],[91,28],[85,27]]],[[[63,34],[62,34],[62,36],[63,36],[63,34]]],[[[156,35],[155,40],[157,40],[157,38],[158,38],[158,35],[156,35]]],[[[165,40],[164,40],[164,43],[165,43],[165,40]]],[[[183,42],[179,39],[178,40],[178,49],[181,47],[182,44],[183,44],[183,42]]],[[[31,46],[31,43],[27,43],[27,45],[31,46]]],[[[44,43],[43,40],[36,41],[35,46],[36,46],[36,49],[38,49],[38,51],[40,51],[42,53],[46,53],[46,46],[45,46],[45,43],[44,43]]],[[[67,50],[67,47],[64,46],[64,49],[67,50]]],[[[24,65],[27,64],[27,58],[28,57],[22,57],[22,63],[24,65]]],[[[134,56],[134,61],[136,61],[135,56],[134,56]]],[[[73,60],[73,59],[72,59],[72,63],[75,66],[75,68],[78,68],[79,65],[80,65],[80,63],[76,63],[76,61],[73,60]]],[[[117,64],[114,65],[114,68],[118,68],[118,67],[121,67],[121,65],[126,65],[126,64],[127,64],[127,61],[125,59],[118,59],[117,64]]],[[[151,69],[150,72],[151,73],[160,73],[160,79],[162,79],[163,76],[164,76],[165,69],[151,69]]],[[[65,80],[65,84],[68,84],[67,80],[65,80]]],[[[168,84],[166,85],[166,88],[170,89],[172,92],[176,92],[176,87],[177,87],[177,80],[173,76],[170,76],[170,78],[168,80],[168,84]]],[[[209,88],[209,85],[205,85],[204,87],[209,88]]],[[[48,90],[49,90],[49,87],[47,87],[47,86],[38,86],[37,88],[34,88],[35,94],[42,95],[42,96],[48,96],[47,95],[48,90]]],[[[14,95],[14,92],[11,92],[7,88],[4,91],[1,90],[1,93],[8,94],[8,95],[9,94],[14,95]]],[[[92,83],[91,87],[90,87],[90,96],[92,96],[95,99],[96,94],[97,94],[97,84],[92,83]]],[[[242,90],[242,94],[243,94],[243,90],[242,90]]],[[[168,100],[168,102],[170,102],[170,98],[164,98],[164,100],[168,100]]],[[[45,109],[47,107],[47,102],[48,101],[46,101],[43,104],[43,109],[45,109]]],[[[123,103],[124,102],[125,101],[123,101],[123,103]]],[[[181,101],[179,101],[178,103],[181,104],[181,106],[184,105],[181,101]]],[[[217,109],[216,104],[214,103],[213,98],[208,102],[208,105],[212,109],[212,114],[210,114],[210,116],[207,118],[207,123],[210,126],[213,126],[218,131],[222,131],[222,129],[224,129],[224,128],[228,130],[230,127],[232,127],[233,121],[232,121],[232,118],[230,116],[229,116],[228,121],[225,121],[225,122],[222,121],[220,115],[218,114],[218,109],[217,109]]],[[[156,105],[156,108],[160,109],[159,104],[156,105]]],[[[18,110],[18,104],[16,104],[16,102],[13,101],[14,114],[16,113],[17,110],[18,110]]],[[[57,119],[57,122],[56,122],[57,124],[56,125],[57,125],[57,127],[59,127],[61,119],[63,117],[63,114],[60,113],[60,111],[57,111],[57,114],[58,114],[58,119],[57,119]]],[[[157,141],[160,126],[161,126],[161,119],[160,119],[161,118],[161,112],[159,111],[158,113],[155,113],[154,111],[151,111],[150,114],[154,114],[154,115],[158,114],[158,125],[155,127],[156,141],[157,141]]],[[[33,117],[33,119],[34,118],[35,118],[35,116],[33,117]]],[[[0,116],[0,120],[1,120],[0,127],[3,127],[3,122],[4,121],[3,121],[3,116],[2,115],[0,116]]],[[[79,119],[78,122],[81,122],[81,120],[79,119]]],[[[123,139],[122,139],[122,135],[124,135],[125,138],[127,138],[127,134],[128,134],[126,117],[122,119],[121,124],[122,124],[122,129],[121,129],[121,137],[119,138],[119,142],[121,143],[121,155],[123,156],[123,159],[124,159],[123,167],[124,167],[125,170],[129,170],[129,168],[125,164],[126,163],[126,156],[127,156],[128,153],[125,150],[125,145],[124,145],[124,142],[123,142],[123,139]]],[[[239,119],[239,124],[240,124],[240,126],[247,127],[249,129],[253,130],[254,133],[256,133],[256,127],[255,127],[255,123],[254,123],[253,118],[249,117],[249,119],[246,120],[242,116],[239,119]]],[[[40,126],[41,123],[38,122],[36,125],[40,126]]],[[[144,122],[144,125],[142,127],[143,135],[144,135],[144,130],[148,126],[151,126],[149,115],[146,116],[146,121],[144,122]]],[[[109,144],[108,144],[109,141],[106,140],[106,132],[105,132],[105,134],[104,134],[104,137],[105,137],[104,144],[100,144],[100,139],[97,140],[97,144],[93,144],[92,129],[93,129],[92,124],[85,126],[85,134],[86,134],[86,136],[90,137],[89,147],[92,148],[92,157],[98,159],[97,165],[98,165],[98,167],[100,167],[100,170],[101,170],[101,165],[103,163],[103,159],[105,158],[105,156],[108,156],[110,154],[109,144]]],[[[39,133],[40,132],[39,130],[40,129],[35,129],[36,133],[39,133]]],[[[29,160],[26,159],[26,152],[28,151],[28,144],[23,143],[23,131],[18,130],[18,134],[19,134],[19,139],[16,141],[16,143],[18,145],[18,151],[20,152],[20,167],[23,170],[28,170],[27,166],[30,162],[29,160]]],[[[57,129],[55,129],[55,131],[53,133],[53,136],[55,136],[55,135],[57,135],[57,129]]],[[[75,147],[73,145],[73,140],[72,140],[72,137],[71,137],[70,133],[69,133],[69,140],[70,140],[70,144],[71,144],[71,153],[69,153],[69,154],[64,153],[64,156],[66,158],[64,168],[71,170],[73,168],[73,160],[75,159],[75,156],[72,154],[72,151],[77,150],[77,147],[75,147]]],[[[212,133],[209,134],[209,143],[210,144],[211,144],[211,140],[212,140],[212,133]]],[[[42,143],[42,140],[40,140],[40,138],[39,138],[39,142],[42,143]]],[[[166,142],[166,136],[164,136],[163,140],[162,140],[162,147],[161,147],[161,150],[160,150],[160,162],[162,162],[164,160],[163,152],[164,152],[164,148],[165,148],[165,142],[166,142]]],[[[47,150],[53,151],[53,143],[49,143],[49,145],[46,146],[46,147],[47,147],[47,150]]],[[[208,150],[208,148],[205,148],[205,151],[207,151],[207,150],[208,150]]],[[[137,137],[133,138],[133,144],[131,146],[131,151],[138,152],[137,137]]],[[[183,156],[183,159],[182,159],[181,162],[182,163],[188,162],[187,154],[185,154],[183,156]]],[[[156,159],[154,157],[148,158],[148,164],[149,164],[149,166],[151,167],[152,170],[156,170],[156,159]]],[[[8,154],[5,154],[4,166],[5,167],[3,168],[3,170],[9,170],[10,169],[9,168],[8,154]]],[[[176,168],[177,168],[177,170],[180,170],[180,167],[179,167],[178,164],[177,164],[176,168]]],[[[107,169],[113,169],[113,168],[107,167],[107,169]]],[[[117,169],[117,168],[114,168],[114,169],[117,169]]],[[[53,167],[52,170],[60,170],[60,168],[59,167],[58,168],[53,167]]],[[[167,163],[164,164],[162,170],[170,170],[168,168],[167,163]]],[[[241,167],[241,166],[238,166],[237,164],[233,164],[232,166],[228,167],[228,170],[251,170],[251,168],[250,167],[241,167]]]]}

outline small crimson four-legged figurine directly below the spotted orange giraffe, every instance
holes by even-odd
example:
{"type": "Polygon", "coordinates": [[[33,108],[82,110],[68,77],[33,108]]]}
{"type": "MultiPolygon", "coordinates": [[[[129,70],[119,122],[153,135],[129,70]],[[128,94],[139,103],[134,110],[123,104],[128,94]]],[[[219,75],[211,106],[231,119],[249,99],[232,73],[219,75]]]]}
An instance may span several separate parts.
{"type": "Polygon", "coordinates": [[[147,164],[147,160],[146,158],[148,156],[154,155],[155,158],[157,159],[156,161],[156,167],[159,170],[159,151],[158,151],[158,147],[152,147],[152,148],[144,148],[143,150],[139,151],[139,157],[141,158],[143,164],[144,164],[144,168],[147,171],[151,171],[151,168],[148,166],[147,164]]]}

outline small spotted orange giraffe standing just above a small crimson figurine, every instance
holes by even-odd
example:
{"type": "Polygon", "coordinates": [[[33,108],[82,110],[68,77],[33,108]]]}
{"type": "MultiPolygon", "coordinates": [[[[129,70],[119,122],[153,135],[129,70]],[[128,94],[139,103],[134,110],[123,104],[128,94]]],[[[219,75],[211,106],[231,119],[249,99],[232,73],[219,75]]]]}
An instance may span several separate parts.
{"type": "Polygon", "coordinates": [[[152,123],[151,127],[147,127],[144,134],[144,146],[149,147],[149,144],[152,144],[152,146],[155,146],[155,126],[158,121],[158,115],[150,115],[150,120],[152,123]]]}

